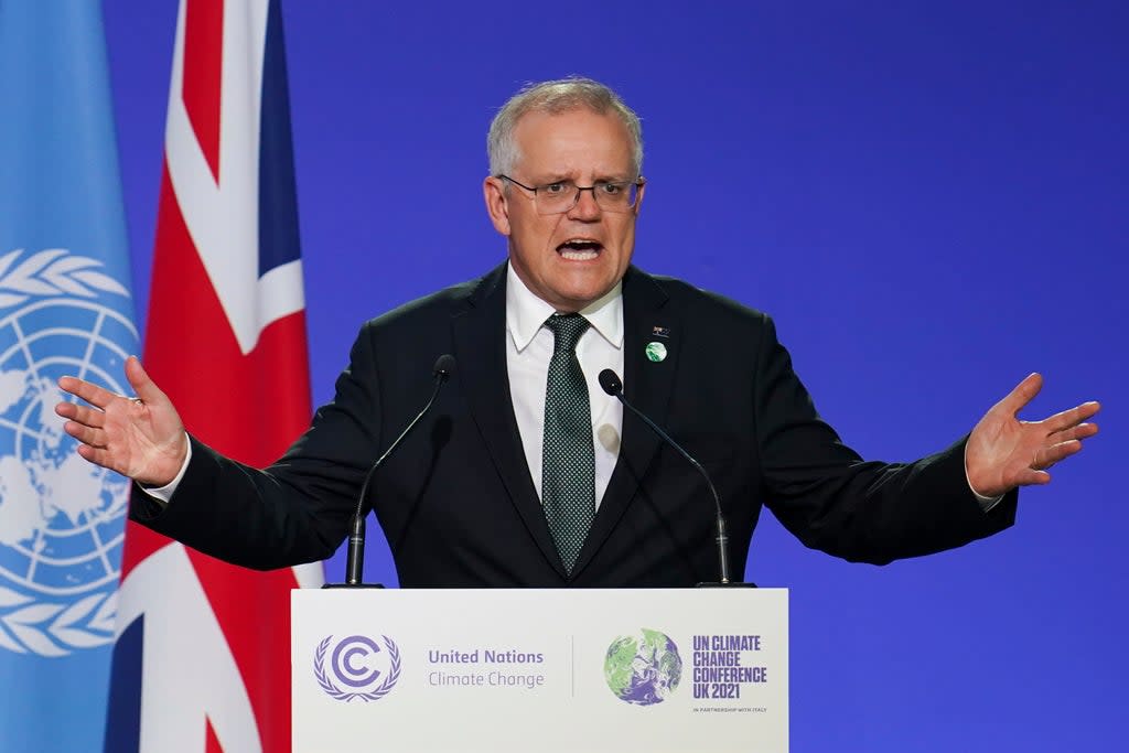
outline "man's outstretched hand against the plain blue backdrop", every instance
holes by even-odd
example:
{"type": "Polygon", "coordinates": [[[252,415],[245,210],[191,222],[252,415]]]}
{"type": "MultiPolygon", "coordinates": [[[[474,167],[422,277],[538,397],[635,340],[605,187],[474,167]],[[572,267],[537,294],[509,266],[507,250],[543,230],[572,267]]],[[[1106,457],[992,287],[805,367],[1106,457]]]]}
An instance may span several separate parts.
{"type": "Polygon", "coordinates": [[[1016,487],[1050,483],[1047,469],[1082,449],[1082,440],[1097,434],[1086,419],[1101,408],[1083,403],[1042,421],[1021,421],[1016,415],[1043,386],[1032,374],[996,403],[977,423],[964,452],[972,490],[999,497],[1016,487]]]}

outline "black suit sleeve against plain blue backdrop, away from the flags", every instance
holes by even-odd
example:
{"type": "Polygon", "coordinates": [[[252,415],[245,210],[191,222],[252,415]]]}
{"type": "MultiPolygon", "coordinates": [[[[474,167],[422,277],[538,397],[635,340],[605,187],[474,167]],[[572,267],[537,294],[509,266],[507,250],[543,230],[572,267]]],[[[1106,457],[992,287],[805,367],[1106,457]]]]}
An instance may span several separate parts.
{"type": "Polygon", "coordinates": [[[864,462],[815,412],[764,318],[753,403],[765,504],[807,546],[884,564],[1010,526],[1018,493],[984,513],[964,473],[966,437],[914,463],[864,462]]]}

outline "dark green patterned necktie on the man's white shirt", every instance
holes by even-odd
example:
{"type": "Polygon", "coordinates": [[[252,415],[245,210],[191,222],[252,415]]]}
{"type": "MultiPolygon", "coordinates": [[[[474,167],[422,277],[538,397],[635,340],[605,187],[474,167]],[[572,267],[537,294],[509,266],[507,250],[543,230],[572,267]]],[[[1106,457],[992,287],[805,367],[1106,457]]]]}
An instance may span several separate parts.
{"type": "Polygon", "coordinates": [[[554,343],[545,385],[541,502],[564,571],[571,573],[596,517],[592,409],[588,385],[576,358],[576,343],[589,324],[579,314],[564,314],[550,316],[545,326],[553,331],[554,343]]]}

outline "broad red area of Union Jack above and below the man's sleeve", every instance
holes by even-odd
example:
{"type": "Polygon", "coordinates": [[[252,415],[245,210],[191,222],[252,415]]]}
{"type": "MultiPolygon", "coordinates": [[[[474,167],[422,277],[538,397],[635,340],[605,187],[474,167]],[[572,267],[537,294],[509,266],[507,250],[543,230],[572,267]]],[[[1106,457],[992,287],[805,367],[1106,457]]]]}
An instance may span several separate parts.
{"type": "MultiPolygon", "coordinates": [[[[146,369],[193,436],[250,465],[271,463],[309,422],[305,313],[272,323],[255,349],[242,353],[192,243],[167,166],[156,247],[146,369]]],[[[133,526],[123,572],[161,542],[167,540],[133,526]]],[[[187,553],[243,678],[264,753],[289,751],[294,571],[257,572],[187,553]]]]}

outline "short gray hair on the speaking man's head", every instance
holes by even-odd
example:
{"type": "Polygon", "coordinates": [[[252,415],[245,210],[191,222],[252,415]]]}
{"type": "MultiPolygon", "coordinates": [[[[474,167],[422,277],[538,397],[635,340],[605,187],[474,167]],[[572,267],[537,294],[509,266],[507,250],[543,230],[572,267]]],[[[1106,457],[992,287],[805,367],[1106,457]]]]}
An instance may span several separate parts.
{"type": "Polygon", "coordinates": [[[639,116],[612,89],[599,81],[580,77],[528,84],[501,106],[487,134],[490,174],[508,175],[517,164],[520,155],[514,141],[514,128],[523,115],[532,112],[559,115],[581,107],[601,115],[612,112],[623,121],[634,147],[631,167],[638,176],[642,169],[642,125],[639,116]]]}

